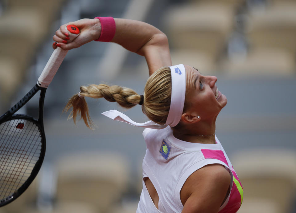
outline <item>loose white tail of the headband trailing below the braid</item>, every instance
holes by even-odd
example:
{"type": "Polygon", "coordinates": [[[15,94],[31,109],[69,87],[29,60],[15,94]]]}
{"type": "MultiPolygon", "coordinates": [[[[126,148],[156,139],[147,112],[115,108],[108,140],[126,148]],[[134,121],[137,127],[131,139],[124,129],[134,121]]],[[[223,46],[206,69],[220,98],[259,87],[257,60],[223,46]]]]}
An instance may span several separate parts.
{"type": "Polygon", "coordinates": [[[128,116],[126,116],[122,112],[117,111],[116,109],[103,112],[102,115],[105,115],[111,118],[112,120],[118,120],[137,127],[144,127],[144,128],[150,128],[150,129],[163,129],[167,127],[167,125],[156,124],[152,120],[146,121],[145,123],[134,122],[128,116]]]}

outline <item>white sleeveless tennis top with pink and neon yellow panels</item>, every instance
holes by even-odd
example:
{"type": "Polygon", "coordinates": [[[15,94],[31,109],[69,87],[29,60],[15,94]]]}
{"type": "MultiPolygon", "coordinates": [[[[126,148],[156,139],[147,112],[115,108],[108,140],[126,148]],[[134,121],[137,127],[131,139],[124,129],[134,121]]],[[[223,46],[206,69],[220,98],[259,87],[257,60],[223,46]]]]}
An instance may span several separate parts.
{"type": "Polygon", "coordinates": [[[243,199],[242,186],[217,137],[216,144],[189,143],[175,138],[169,126],[160,130],[146,128],[143,136],[147,146],[143,178],[149,177],[159,202],[157,209],[142,180],[143,190],[137,213],[181,212],[180,191],[183,184],[193,172],[207,164],[222,164],[231,171],[231,192],[219,213],[238,211],[243,199]]]}

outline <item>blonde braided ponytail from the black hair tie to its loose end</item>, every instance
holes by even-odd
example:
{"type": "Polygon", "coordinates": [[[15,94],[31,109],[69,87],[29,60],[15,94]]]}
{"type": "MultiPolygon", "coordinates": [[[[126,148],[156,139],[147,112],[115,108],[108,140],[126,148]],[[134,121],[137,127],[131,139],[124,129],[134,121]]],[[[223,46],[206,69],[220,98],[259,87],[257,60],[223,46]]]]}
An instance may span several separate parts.
{"type": "Polygon", "coordinates": [[[89,116],[88,106],[84,97],[105,98],[107,101],[117,102],[124,108],[132,108],[141,101],[141,96],[132,89],[106,84],[81,86],[80,96],[78,94],[72,96],[63,112],[68,112],[73,108],[68,116],[68,120],[73,118],[74,123],[76,123],[77,113],[79,113],[86,126],[90,129],[93,129],[94,124],[89,116]]]}

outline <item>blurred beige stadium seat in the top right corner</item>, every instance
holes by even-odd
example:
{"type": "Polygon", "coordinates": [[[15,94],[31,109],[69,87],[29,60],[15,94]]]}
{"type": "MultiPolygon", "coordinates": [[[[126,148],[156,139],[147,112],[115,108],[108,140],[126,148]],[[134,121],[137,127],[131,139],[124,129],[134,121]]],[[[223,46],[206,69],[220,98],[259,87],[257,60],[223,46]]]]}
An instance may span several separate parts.
{"type": "Polygon", "coordinates": [[[296,53],[296,2],[277,1],[264,10],[251,10],[247,38],[252,47],[268,47],[296,53]]]}

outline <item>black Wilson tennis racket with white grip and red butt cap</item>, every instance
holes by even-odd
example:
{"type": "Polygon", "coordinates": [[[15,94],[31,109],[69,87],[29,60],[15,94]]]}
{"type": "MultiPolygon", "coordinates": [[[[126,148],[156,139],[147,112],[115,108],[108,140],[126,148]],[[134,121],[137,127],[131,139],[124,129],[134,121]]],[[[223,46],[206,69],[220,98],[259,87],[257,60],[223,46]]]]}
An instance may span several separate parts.
{"type": "MultiPolygon", "coordinates": [[[[74,25],[66,26],[70,39],[80,33],[74,25]]],[[[18,198],[32,183],[45,155],[43,104],[45,92],[68,51],[57,47],[49,58],[37,84],[0,117],[0,207],[18,198]],[[38,119],[14,114],[38,91],[38,119]]]]}

